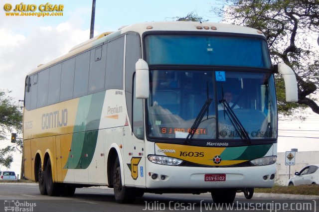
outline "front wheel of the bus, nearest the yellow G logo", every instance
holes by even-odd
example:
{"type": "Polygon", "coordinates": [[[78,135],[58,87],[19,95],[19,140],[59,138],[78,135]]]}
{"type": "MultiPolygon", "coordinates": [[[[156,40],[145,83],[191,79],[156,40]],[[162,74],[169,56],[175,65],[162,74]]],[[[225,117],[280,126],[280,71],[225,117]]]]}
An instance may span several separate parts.
{"type": "Polygon", "coordinates": [[[119,158],[116,159],[113,172],[114,197],[117,203],[133,203],[135,200],[133,189],[122,185],[121,167],[119,158]]]}

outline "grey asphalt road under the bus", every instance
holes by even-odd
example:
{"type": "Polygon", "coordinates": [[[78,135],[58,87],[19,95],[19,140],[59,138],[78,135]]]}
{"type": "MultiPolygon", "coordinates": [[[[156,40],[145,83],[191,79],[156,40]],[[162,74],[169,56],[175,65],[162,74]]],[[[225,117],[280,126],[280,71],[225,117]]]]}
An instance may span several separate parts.
{"type": "MultiPolygon", "coordinates": [[[[48,197],[39,193],[35,184],[1,184],[0,212],[170,212],[170,211],[319,211],[319,200],[287,200],[237,195],[233,205],[215,206],[210,194],[145,194],[134,204],[117,204],[108,188],[76,189],[73,197],[48,197]],[[12,208],[10,208],[12,207],[12,208]]],[[[305,199],[305,198],[304,198],[305,199]]]]}

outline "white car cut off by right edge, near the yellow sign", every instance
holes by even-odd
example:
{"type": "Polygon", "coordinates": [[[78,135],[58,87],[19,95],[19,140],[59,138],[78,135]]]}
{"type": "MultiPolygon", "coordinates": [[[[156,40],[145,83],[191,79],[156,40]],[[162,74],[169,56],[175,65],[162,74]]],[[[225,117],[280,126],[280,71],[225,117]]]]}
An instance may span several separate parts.
{"type": "Polygon", "coordinates": [[[289,186],[319,184],[319,165],[309,165],[288,181],[289,186]]]}

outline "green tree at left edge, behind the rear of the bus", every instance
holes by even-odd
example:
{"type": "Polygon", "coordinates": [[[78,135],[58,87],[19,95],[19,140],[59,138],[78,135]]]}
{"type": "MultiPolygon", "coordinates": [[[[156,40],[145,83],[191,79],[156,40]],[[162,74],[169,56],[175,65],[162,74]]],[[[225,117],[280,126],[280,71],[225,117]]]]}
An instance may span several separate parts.
{"type": "MultiPolygon", "coordinates": [[[[8,96],[9,93],[9,91],[0,90],[0,141],[6,139],[7,132],[14,130],[21,134],[22,130],[22,112],[18,104],[14,103],[13,99],[8,96]]],[[[22,147],[22,139],[18,138],[16,142],[13,146],[0,149],[0,167],[11,167],[13,161],[11,152],[16,149],[16,145],[22,147]]]]}

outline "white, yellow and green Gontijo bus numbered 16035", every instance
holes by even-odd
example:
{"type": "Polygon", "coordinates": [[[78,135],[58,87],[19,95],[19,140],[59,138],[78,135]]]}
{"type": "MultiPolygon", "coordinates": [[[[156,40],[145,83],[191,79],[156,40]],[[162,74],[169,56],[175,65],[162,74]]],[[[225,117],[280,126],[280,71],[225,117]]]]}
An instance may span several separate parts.
{"type": "Polygon", "coordinates": [[[27,74],[24,177],[42,195],[108,186],[144,193],[274,185],[274,74],[298,101],[294,72],[272,65],[264,34],[211,22],[146,22],[106,32],[27,74]]]}

